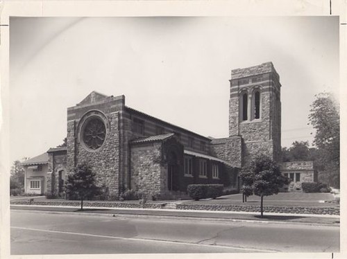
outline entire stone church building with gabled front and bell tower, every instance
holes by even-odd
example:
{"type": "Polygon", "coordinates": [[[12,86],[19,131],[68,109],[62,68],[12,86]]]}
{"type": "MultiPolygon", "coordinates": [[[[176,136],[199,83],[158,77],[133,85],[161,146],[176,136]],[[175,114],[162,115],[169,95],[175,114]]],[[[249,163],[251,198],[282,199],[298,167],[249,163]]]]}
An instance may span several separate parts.
{"type": "MultiPolygon", "coordinates": [[[[280,77],[267,62],[231,71],[229,136],[212,139],[126,106],[125,96],[93,91],[67,108],[67,145],[24,161],[26,193],[59,195],[80,163],[96,172],[109,199],[126,189],[161,198],[189,184],[239,190],[239,171],[257,154],[280,163],[280,77]],[[32,188],[33,187],[33,188],[32,188]]],[[[283,163],[291,190],[314,181],[312,162],[283,163]]]]}

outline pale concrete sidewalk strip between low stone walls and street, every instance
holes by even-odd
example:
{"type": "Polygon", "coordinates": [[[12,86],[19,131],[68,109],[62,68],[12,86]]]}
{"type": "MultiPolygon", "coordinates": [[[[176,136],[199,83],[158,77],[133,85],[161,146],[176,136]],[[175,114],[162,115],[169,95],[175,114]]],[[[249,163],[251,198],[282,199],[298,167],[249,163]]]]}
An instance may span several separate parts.
{"type": "Polygon", "coordinates": [[[235,212],[235,211],[193,211],[157,208],[96,208],[83,207],[83,211],[76,206],[38,206],[38,205],[11,205],[14,210],[48,211],[52,213],[83,213],[91,215],[130,215],[135,217],[180,217],[185,219],[210,219],[210,220],[242,220],[260,222],[297,222],[304,224],[335,224],[339,225],[338,215],[310,215],[289,213],[260,213],[235,212]]]}

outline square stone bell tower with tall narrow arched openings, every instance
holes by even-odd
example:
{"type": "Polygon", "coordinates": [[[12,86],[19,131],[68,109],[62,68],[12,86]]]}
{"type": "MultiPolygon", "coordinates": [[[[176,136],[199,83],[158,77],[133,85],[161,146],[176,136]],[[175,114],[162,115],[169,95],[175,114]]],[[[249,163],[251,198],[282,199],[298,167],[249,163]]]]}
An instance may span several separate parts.
{"type": "Polygon", "coordinates": [[[229,136],[242,139],[242,166],[260,153],[280,160],[280,87],[272,62],[231,71],[229,136]]]}

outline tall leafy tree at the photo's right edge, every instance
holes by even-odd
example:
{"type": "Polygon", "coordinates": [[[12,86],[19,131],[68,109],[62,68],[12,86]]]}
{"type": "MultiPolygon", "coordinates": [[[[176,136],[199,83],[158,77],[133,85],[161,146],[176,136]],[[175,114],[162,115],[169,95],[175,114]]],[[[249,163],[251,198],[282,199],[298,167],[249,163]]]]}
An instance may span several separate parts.
{"type": "Polygon", "coordinates": [[[339,188],[340,115],[332,93],[319,93],[311,105],[310,123],[316,130],[314,145],[319,150],[320,175],[339,188]]]}

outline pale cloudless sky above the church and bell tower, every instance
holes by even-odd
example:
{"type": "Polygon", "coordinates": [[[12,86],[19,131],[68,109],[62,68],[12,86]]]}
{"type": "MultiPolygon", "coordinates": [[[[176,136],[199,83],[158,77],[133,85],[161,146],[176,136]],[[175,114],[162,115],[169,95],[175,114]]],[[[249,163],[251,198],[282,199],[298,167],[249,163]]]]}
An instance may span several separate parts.
{"type": "Polygon", "coordinates": [[[10,159],[62,143],[92,91],[203,136],[228,136],[232,69],[273,62],[282,147],[312,144],[314,95],[339,99],[338,17],[10,18],[10,159]]]}

